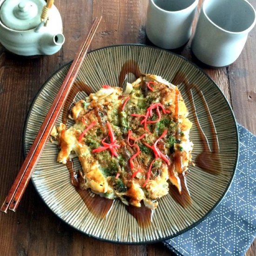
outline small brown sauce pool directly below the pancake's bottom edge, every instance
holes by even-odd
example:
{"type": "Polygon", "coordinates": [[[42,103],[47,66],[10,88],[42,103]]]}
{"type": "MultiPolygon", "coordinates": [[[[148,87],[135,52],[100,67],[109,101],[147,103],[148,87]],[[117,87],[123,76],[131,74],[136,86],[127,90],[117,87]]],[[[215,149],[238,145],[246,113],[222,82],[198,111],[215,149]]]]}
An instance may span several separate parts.
{"type": "Polygon", "coordinates": [[[141,203],[141,207],[135,207],[133,205],[126,206],[126,209],[129,214],[135,217],[138,225],[146,229],[151,225],[152,217],[153,217],[153,211],[146,207],[144,203],[141,203]]]}

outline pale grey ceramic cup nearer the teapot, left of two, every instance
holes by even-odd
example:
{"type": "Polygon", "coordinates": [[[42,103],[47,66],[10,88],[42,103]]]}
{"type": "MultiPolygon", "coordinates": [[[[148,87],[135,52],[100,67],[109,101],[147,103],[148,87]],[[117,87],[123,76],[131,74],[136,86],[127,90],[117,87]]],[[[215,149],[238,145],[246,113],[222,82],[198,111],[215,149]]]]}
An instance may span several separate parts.
{"type": "Polygon", "coordinates": [[[164,49],[183,46],[191,36],[197,4],[198,0],[149,0],[148,39],[164,49]]]}

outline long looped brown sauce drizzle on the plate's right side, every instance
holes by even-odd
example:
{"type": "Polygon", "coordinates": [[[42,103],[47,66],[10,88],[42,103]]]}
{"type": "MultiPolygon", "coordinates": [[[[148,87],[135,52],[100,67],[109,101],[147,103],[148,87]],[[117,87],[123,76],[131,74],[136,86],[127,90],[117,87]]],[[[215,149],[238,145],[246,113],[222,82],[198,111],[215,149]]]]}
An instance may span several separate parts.
{"type": "Polygon", "coordinates": [[[178,72],[172,81],[173,84],[178,85],[181,83],[184,83],[186,86],[186,93],[189,96],[189,101],[192,106],[192,111],[195,119],[195,124],[198,129],[200,139],[202,142],[202,148],[203,151],[199,155],[197,155],[195,163],[198,167],[204,169],[205,171],[218,175],[221,172],[221,161],[220,161],[220,155],[219,155],[219,143],[218,143],[218,137],[216,133],[216,128],[212,119],[212,116],[210,114],[207,102],[205,101],[205,98],[202,94],[202,91],[195,85],[190,84],[186,75],[183,72],[178,72]],[[193,99],[192,89],[195,89],[196,93],[199,95],[199,97],[202,100],[203,106],[207,112],[208,120],[211,127],[211,136],[213,139],[213,146],[212,150],[209,148],[209,143],[207,140],[206,135],[204,134],[201,125],[199,123],[196,110],[195,110],[195,103],[193,99]]]}

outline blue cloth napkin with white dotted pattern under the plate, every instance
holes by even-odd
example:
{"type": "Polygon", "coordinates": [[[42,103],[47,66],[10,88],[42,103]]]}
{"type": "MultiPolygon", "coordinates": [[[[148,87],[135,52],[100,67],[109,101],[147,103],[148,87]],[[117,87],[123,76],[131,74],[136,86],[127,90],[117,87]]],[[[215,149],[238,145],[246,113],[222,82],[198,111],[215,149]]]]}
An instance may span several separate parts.
{"type": "Polygon", "coordinates": [[[227,195],[199,225],[164,242],[178,256],[242,256],[256,237],[256,136],[238,125],[240,154],[227,195]]]}

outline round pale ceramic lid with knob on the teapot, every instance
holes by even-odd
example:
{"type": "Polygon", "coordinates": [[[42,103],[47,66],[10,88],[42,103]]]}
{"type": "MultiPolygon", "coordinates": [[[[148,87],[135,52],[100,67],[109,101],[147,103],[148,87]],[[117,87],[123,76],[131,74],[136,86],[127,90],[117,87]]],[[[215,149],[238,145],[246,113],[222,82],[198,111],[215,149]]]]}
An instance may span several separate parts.
{"type": "Polygon", "coordinates": [[[13,30],[29,30],[40,23],[43,0],[5,0],[0,7],[0,20],[13,30]]]}

